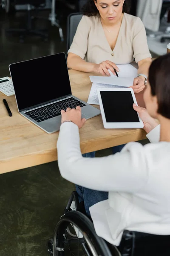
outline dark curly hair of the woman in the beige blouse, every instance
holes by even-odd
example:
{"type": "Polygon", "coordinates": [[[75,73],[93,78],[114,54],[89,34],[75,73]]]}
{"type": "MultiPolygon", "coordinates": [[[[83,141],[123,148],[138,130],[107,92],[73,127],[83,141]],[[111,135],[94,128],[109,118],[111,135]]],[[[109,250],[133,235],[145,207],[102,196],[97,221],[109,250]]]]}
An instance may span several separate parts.
{"type": "MultiPolygon", "coordinates": [[[[125,0],[122,12],[130,13],[130,0],[125,0]]],[[[94,0],[87,0],[87,3],[85,3],[85,5],[82,7],[82,13],[83,15],[86,15],[88,17],[99,14],[99,11],[95,6],[94,0]]]]}

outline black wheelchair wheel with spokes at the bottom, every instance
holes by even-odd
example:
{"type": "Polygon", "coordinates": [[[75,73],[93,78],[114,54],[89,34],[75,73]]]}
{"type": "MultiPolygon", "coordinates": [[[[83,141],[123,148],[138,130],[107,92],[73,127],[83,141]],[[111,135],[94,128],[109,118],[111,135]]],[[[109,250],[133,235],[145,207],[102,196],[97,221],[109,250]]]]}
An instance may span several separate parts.
{"type": "Polygon", "coordinates": [[[54,238],[48,241],[48,252],[53,256],[113,256],[105,241],[96,235],[90,219],[79,211],[69,211],[62,216],[54,238]],[[75,233],[76,238],[67,232],[70,225],[74,230],[71,234],[75,233]]]}

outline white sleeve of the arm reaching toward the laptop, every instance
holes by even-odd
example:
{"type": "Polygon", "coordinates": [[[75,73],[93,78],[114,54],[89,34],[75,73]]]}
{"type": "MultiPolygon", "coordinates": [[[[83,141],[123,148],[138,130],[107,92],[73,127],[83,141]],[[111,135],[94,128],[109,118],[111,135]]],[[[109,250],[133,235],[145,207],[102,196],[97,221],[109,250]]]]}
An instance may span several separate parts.
{"type": "Polygon", "coordinates": [[[79,129],[71,122],[60,127],[57,141],[59,171],[66,180],[100,191],[135,192],[147,179],[144,147],[128,143],[108,157],[82,157],[79,129]]]}

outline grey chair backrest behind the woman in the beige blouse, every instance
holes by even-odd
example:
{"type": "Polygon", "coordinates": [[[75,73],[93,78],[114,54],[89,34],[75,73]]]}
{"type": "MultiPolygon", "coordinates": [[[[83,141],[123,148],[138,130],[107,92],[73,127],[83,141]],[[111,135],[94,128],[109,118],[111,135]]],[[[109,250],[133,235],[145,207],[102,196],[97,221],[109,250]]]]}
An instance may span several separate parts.
{"type": "Polygon", "coordinates": [[[80,12],[71,13],[67,18],[67,52],[73,42],[74,35],[77,30],[77,26],[82,18],[83,14],[80,12]]]}

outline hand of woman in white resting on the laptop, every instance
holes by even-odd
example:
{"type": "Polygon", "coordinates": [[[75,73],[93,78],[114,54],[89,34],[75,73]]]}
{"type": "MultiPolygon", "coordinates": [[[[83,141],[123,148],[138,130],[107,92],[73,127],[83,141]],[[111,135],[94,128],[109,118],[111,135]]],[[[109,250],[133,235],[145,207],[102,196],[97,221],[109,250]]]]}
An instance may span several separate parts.
{"type": "Polygon", "coordinates": [[[67,108],[66,111],[61,111],[61,123],[65,121],[71,121],[74,122],[75,125],[77,125],[79,128],[82,128],[84,125],[86,119],[82,118],[82,111],[79,106],[75,108],[67,108]]]}

